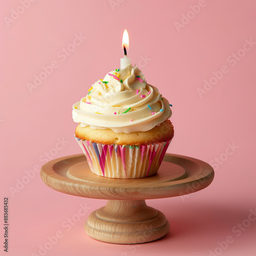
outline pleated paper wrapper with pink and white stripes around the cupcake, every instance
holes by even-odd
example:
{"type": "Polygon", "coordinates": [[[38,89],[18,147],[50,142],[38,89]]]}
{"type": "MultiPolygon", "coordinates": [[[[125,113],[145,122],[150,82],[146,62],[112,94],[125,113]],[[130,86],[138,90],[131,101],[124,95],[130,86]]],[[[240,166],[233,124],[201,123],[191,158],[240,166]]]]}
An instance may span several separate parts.
{"type": "Polygon", "coordinates": [[[75,139],[94,174],[118,179],[144,178],[156,174],[171,141],[134,146],[92,143],[76,136],[75,139]]]}

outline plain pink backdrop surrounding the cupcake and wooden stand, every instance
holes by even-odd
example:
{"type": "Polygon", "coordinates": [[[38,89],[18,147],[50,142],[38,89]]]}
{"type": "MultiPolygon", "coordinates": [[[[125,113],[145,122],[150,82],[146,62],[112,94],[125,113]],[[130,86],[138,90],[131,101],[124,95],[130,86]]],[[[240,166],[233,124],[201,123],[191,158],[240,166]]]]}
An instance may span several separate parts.
{"type": "Polygon", "coordinates": [[[63,236],[46,255],[255,255],[256,221],[248,221],[250,210],[256,210],[255,1],[37,0],[28,5],[2,0],[0,8],[1,195],[9,197],[8,255],[42,255],[39,246],[58,231],[63,236]],[[12,9],[23,13],[15,16],[12,9]],[[199,158],[216,172],[212,184],[195,194],[148,200],[164,212],[170,230],[163,239],[137,246],[88,237],[83,223],[106,202],[57,193],[33,170],[46,162],[46,153],[51,158],[81,153],[71,106],[97,79],[119,68],[125,28],[132,63],[173,104],[175,137],[168,153],[199,158]],[[58,52],[75,34],[86,39],[70,46],[74,51],[64,59],[58,52]],[[52,61],[58,67],[30,92],[27,84],[52,61]],[[212,78],[223,66],[220,79],[212,78]],[[204,80],[216,84],[200,97],[204,80]],[[66,142],[56,151],[58,139],[66,142]],[[26,179],[28,173],[32,178],[26,179]],[[67,226],[80,204],[91,208],[67,226]],[[232,243],[222,249],[219,244],[230,236],[232,243]]]}

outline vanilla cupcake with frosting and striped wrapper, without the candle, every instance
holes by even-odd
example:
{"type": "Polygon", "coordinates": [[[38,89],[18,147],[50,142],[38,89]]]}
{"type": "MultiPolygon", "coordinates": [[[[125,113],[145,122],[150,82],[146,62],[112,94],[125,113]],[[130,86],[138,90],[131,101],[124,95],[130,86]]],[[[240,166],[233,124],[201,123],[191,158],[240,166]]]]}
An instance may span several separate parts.
{"type": "Polygon", "coordinates": [[[169,102],[127,65],[96,81],[73,105],[75,139],[91,171],[119,179],[157,173],[174,136],[169,102]]]}

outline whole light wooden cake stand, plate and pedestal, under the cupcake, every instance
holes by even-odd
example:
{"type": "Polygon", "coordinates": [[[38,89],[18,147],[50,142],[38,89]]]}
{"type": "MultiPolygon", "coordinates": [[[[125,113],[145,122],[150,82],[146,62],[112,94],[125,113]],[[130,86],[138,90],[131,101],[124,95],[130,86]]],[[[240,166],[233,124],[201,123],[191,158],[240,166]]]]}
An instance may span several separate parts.
{"type": "Polygon", "coordinates": [[[41,168],[45,184],[69,195],[108,199],[92,212],[84,229],[99,241],[138,244],[163,237],[169,223],[145,199],[186,195],[207,187],[214,179],[212,167],[198,159],[166,154],[154,176],[111,179],[93,174],[86,157],[74,155],[52,160],[41,168]]]}

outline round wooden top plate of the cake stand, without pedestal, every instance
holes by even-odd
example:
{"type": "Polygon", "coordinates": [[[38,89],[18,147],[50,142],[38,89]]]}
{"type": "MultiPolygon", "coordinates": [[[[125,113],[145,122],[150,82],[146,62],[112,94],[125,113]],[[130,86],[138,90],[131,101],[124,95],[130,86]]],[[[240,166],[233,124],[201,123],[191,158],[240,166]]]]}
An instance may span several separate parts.
{"type": "Polygon", "coordinates": [[[41,167],[45,184],[65,194],[109,200],[176,197],[207,187],[212,167],[195,158],[165,154],[156,175],[141,179],[112,179],[93,174],[83,154],[52,160],[41,167]]]}

